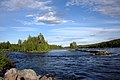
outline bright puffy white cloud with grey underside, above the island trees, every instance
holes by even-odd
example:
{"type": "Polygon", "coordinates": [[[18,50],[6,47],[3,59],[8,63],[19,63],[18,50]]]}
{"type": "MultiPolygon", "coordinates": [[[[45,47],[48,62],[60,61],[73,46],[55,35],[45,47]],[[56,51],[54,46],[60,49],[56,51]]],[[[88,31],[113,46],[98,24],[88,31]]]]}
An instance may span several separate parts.
{"type": "Polygon", "coordinates": [[[65,20],[62,18],[59,18],[57,16],[57,12],[54,11],[48,11],[47,13],[44,14],[30,14],[27,15],[26,17],[33,18],[32,21],[23,21],[25,25],[29,24],[36,24],[36,25],[44,25],[44,24],[63,24],[63,23],[68,23],[68,22],[74,22],[72,20],[65,20]]]}

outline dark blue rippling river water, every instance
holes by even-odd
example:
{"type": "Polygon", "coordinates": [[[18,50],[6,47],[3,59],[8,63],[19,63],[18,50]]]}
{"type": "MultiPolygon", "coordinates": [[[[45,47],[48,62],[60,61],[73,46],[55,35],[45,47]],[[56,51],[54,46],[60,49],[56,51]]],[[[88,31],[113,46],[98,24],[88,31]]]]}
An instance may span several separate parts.
{"type": "Polygon", "coordinates": [[[53,50],[46,54],[8,53],[18,69],[31,68],[38,74],[62,80],[120,79],[120,48],[104,49],[112,56],[92,56],[91,53],[53,50]]]}

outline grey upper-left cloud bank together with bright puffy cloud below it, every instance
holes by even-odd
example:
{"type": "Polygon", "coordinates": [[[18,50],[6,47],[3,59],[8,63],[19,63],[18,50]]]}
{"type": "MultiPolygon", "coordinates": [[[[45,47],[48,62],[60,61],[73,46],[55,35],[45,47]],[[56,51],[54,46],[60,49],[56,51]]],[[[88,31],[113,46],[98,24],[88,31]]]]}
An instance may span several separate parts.
{"type": "Polygon", "coordinates": [[[50,6],[51,1],[39,1],[39,0],[7,0],[3,1],[2,5],[10,11],[20,9],[37,10],[37,13],[26,15],[26,18],[31,17],[30,21],[21,21],[23,24],[62,24],[67,22],[73,22],[71,20],[65,20],[58,17],[55,8],[50,6]]]}

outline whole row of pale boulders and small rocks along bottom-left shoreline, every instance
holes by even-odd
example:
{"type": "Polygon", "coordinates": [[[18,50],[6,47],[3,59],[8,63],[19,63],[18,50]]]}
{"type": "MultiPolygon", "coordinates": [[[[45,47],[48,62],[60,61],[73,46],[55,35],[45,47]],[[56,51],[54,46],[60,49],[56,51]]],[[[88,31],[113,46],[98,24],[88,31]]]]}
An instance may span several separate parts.
{"type": "Polygon", "coordinates": [[[58,80],[53,77],[47,77],[45,75],[37,75],[32,69],[17,70],[11,68],[7,70],[4,77],[0,77],[0,80],[58,80]]]}

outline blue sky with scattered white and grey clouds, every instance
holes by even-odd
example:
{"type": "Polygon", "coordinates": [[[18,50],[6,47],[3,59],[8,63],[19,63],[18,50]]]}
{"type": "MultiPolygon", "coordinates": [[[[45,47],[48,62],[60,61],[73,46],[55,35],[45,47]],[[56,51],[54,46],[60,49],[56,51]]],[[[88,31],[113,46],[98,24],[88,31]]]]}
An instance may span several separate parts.
{"type": "Polygon", "coordinates": [[[40,33],[62,46],[120,38],[120,0],[0,0],[0,42],[40,33]]]}

